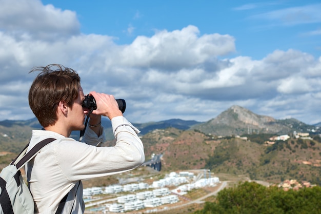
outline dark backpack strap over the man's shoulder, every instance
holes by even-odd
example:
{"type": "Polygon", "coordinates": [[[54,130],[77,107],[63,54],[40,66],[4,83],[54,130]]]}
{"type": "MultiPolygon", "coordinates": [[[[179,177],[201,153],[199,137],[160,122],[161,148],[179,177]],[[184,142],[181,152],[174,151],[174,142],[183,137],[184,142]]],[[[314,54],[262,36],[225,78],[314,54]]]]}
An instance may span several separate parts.
{"type": "Polygon", "coordinates": [[[47,144],[56,139],[48,138],[37,143],[29,152],[27,152],[29,144],[23,149],[23,151],[12,161],[11,165],[15,165],[17,170],[21,169],[26,163],[35,157],[35,155],[47,144]]]}

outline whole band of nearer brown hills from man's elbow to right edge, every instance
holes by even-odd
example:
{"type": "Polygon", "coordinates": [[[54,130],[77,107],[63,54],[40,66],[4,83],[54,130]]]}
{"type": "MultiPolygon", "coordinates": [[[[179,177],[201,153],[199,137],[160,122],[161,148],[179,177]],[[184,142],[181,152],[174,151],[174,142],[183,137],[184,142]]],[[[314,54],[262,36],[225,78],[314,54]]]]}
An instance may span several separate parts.
{"type": "MultiPolygon", "coordinates": [[[[251,139],[268,135],[249,135],[251,139]]],[[[210,169],[214,173],[245,174],[252,180],[279,183],[286,179],[321,184],[321,141],[289,139],[267,146],[240,138],[217,139],[195,131],[174,128],[142,137],[146,158],[163,153],[162,169],[210,169]]]]}

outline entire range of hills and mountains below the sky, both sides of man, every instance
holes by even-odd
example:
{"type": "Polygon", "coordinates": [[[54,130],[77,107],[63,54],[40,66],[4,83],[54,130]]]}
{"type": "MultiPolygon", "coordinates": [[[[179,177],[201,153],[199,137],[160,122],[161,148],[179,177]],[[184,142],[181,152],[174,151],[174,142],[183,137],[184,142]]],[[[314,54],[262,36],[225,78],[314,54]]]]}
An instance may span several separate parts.
{"type": "MultiPolygon", "coordinates": [[[[112,134],[110,121],[102,123],[106,133],[112,134]]],[[[214,173],[244,174],[275,183],[285,179],[320,183],[319,129],[295,119],[275,120],[232,106],[206,123],[175,119],[134,125],[143,130],[140,136],[146,160],[153,153],[162,153],[164,171],[206,168],[214,173]],[[313,140],[291,138],[269,146],[264,144],[273,135],[292,136],[293,131],[308,132],[313,140]]],[[[28,143],[33,128],[40,128],[36,120],[0,122],[0,151],[20,151],[28,143]]],[[[75,139],[77,134],[73,134],[75,139]]],[[[104,146],[115,144],[113,138],[109,139],[104,146]]],[[[13,156],[2,154],[1,164],[13,156]]]]}

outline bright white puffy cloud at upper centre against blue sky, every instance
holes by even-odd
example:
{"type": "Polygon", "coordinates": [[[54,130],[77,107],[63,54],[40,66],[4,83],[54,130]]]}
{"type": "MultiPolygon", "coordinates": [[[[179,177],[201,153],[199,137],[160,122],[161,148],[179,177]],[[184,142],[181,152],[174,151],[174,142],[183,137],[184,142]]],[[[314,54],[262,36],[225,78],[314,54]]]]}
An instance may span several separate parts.
{"type": "Polygon", "coordinates": [[[179,69],[204,63],[214,56],[235,51],[234,38],[217,33],[198,36],[195,26],[182,30],[138,36],[121,52],[121,63],[128,66],[179,69]]]}

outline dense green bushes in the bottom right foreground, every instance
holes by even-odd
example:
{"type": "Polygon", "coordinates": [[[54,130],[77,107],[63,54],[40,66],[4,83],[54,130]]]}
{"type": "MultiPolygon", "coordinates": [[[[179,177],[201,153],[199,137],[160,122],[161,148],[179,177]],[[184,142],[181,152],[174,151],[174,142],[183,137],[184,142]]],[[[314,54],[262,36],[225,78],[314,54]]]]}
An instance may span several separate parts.
{"type": "Polygon", "coordinates": [[[321,213],[321,187],[284,191],[255,182],[240,183],[218,192],[194,214],[316,214],[321,213]]]}

